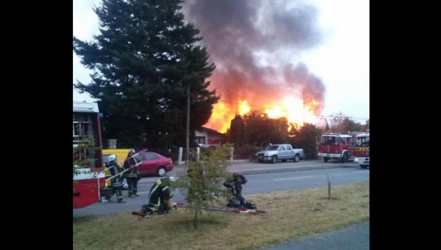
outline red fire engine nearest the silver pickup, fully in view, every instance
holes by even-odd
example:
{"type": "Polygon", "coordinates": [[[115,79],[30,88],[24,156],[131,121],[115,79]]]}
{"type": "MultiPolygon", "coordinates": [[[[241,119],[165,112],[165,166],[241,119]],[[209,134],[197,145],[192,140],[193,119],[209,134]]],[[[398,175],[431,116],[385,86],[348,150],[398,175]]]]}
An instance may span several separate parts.
{"type": "Polygon", "coordinates": [[[346,162],[354,153],[355,136],[349,134],[327,133],[321,135],[319,156],[324,162],[339,159],[346,162]]]}

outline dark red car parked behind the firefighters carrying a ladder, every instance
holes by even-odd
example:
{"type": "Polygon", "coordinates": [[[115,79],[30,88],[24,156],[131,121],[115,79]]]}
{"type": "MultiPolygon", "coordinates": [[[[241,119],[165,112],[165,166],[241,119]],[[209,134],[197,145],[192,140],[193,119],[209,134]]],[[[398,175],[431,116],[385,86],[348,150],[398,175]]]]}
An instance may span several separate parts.
{"type": "Polygon", "coordinates": [[[138,166],[140,175],[164,176],[167,172],[173,170],[173,161],[171,158],[164,157],[159,153],[140,151],[143,163],[138,166]]]}

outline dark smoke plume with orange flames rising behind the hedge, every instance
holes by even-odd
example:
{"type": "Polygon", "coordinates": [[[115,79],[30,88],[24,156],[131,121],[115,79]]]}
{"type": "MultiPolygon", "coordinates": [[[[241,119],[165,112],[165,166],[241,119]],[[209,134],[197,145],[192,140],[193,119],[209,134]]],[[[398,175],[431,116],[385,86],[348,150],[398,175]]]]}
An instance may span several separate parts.
{"type": "Polygon", "coordinates": [[[325,87],[298,60],[320,42],[313,6],[296,0],[187,0],[183,11],[217,67],[211,87],[221,101],[208,127],[224,132],[241,109],[256,108],[237,104],[243,101],[302,123],[305,97],[305,109],[320,114],[325,87]]]}

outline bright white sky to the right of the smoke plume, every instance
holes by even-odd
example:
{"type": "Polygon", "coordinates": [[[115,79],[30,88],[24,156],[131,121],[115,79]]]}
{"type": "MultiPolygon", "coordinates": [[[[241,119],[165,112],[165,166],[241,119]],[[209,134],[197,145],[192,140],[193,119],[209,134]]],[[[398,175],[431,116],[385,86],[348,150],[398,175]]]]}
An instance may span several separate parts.
{"type": "Polygon", "coordinates": [[[326,86],[323,115],[369,118],[369,1],[314,1],[325,36],[302,60],[326,86]]]}

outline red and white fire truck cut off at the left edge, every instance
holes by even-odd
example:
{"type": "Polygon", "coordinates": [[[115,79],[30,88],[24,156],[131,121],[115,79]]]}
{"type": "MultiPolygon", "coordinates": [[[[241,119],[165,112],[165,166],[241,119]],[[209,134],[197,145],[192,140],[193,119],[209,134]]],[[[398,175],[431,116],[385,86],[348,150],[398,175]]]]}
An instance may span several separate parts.
{"type": "Polygon", "coordinates": [[[73,102],[73,160],[87,161],[75,165],[73,173],[73,208],[82,208],[99,201],[108,192],[102,162],[101,128],[98,104],[73,102]],[[83,148],[85,142],[92,148],[83,148]]]}

